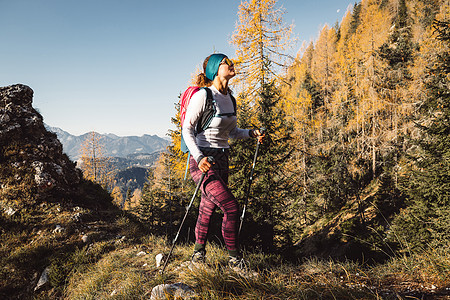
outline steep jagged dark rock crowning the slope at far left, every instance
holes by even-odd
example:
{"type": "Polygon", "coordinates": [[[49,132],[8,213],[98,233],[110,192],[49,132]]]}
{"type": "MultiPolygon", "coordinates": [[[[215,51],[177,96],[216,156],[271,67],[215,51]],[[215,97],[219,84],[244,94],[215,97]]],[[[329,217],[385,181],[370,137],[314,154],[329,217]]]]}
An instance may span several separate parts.
{"type": "Polygon", "coordinates": [[[56,134],[47,131],[33,106],[33,90],[22,84],[0,88],[0,197],[70,192],[81,173],[63,154],[56,134]],[[22,187],[17,189],[17,187],[22,187]]]}

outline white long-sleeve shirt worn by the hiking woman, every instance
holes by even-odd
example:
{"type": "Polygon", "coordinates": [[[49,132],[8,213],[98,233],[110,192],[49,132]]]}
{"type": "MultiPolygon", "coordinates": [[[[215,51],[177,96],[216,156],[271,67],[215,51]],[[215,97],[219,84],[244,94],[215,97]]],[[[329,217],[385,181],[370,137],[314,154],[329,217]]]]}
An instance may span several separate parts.
{"type": "MultiPolygon", "coordinates": [[[[233,113],[234,106],[230,93],[224,95],[214,86],[209,87],[212,91],[213,103],[216,107],[216,114],[233,113]]],[[[229,138],[246,139],[250,137],[250,130],[237,127],[236,116],[221,116],[214,118],[209,127],[195,136],[197,122],[205,109],[206,91],[201,89],[195,93],[187,107],[186,116],[183,123],[183,138],[191,155],[197,162],[204,157],[200,147],[204,148],[230,148],[229,138]]]]}

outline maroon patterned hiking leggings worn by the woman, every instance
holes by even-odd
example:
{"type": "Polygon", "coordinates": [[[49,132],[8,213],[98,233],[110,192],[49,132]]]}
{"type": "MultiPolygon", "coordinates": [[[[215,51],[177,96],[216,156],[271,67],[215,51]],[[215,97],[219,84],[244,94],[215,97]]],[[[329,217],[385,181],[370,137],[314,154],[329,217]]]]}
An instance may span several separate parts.
{"type": "MultiPolygon", "coordinates": [[[[205,156],[213,156],[215,164],[206,174],[201,185],[202,197],[195,227],[196,244],[205,245],[208,228],[214,209],[223,211],[222,236],[229,251],[237,249],[237,224],[239,206],[236,198],[228,188],[228,149],[201,149],[205,156]]],[[[190,172],[195,183],[198,183],[202,171],[191,156],[190,172]]]]}

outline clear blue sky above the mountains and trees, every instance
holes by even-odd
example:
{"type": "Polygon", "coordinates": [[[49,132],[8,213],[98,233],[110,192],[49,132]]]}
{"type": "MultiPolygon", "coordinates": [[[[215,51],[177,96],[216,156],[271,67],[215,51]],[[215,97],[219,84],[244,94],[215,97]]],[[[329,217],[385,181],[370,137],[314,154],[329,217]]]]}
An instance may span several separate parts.
{"type": "MultiPolygon", "coordinates": [[[[240,0],[0,0],[0,86],[23,83],[50,126],[165,136],[198,66],[229,44],[240,0]]],[[[300,42],[351,0],[279,0],[300,42]]]]}

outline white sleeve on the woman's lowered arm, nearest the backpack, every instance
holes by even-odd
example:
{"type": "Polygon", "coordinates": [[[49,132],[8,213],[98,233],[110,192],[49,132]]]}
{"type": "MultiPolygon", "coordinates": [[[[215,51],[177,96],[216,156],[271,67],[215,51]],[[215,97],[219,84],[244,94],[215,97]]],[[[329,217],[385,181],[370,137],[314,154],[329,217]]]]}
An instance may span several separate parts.
{"type": "Polygon", "coordinates": [[[186,116],[182,128],[182,135],[189,152],[197,162],[200,162],[204,157],[203,153],[197,146],[195,139],[195,127],[203,114],[206,102],[206,91],[204,89],[195,93],[186,110],[186,116]]]}

